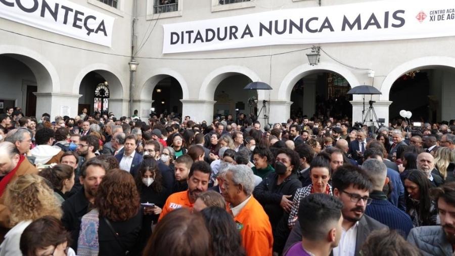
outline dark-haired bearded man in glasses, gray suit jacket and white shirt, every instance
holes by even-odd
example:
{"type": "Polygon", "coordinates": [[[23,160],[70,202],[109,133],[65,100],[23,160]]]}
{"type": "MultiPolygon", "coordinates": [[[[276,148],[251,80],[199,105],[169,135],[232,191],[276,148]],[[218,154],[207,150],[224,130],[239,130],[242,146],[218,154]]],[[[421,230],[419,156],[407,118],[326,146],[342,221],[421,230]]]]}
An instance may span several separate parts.
{"type": "MultiPolygon", "coordinates": [[[[373,189],[368,174],[360,167],[345,165],[332,176],[333,195],[343,202],[343,231],[337,247],[331,255],[359,255],[362,244],[374,230],[387,229],[387,226],[364,214],[371,203],[370,191],[373,189]]],[[[304,205],[301,205],[304,207],[304,205]]],[[[284,252],[294,243],[302,240],[299,222],[296,223],[286,241],[284,252]]]]}

